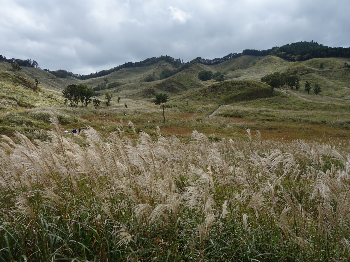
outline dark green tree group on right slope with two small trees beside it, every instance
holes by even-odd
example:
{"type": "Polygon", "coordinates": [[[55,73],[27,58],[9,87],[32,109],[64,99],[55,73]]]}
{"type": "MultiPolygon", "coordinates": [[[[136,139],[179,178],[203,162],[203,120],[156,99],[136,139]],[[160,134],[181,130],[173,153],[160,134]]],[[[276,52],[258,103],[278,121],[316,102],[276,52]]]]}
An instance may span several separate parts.
{"type": "MultiPolygon", "coordinates": [[[[300,89],[299,80],[300,80],[299,75],[279,73],[279,72],[267,74],[261,78],[261,82],[267,83],[267,85],[270,86],[271,91],[273,91],[274,88],[281,89],[284,85],[286,85],[286,87],[289,87],[292,90],[295,88],[295,90],[298,91],[300,89]]],[[[310,92],[311,85],[308,81],[306,81],[304,88],[306,92],[308,93],[310,92]]],[[[315,83],[313,87],[313,91],[316,95],[322,91],[318,83],[315,83]]]]}

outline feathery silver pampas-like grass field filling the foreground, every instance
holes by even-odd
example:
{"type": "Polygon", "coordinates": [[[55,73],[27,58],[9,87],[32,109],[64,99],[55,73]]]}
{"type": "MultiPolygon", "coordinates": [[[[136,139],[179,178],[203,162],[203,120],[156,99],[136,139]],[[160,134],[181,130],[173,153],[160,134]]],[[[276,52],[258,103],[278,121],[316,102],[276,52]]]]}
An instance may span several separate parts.
{"type": "Polygon", "coordinates": [[[82,138],[51,122],[50,142],[0,138],[0,261],[349,260],[349,140],[82,138]]]}

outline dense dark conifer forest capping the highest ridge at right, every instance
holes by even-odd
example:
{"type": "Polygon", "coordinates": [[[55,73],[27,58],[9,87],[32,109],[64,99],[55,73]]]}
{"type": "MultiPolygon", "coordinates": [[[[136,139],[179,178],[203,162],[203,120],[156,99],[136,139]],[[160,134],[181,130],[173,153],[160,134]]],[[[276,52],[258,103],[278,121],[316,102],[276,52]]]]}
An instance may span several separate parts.
{"type": "Polygon", "coordinates": [[[284,59],[292,61],[308,60],[315,57],[350,57],[350,47],[328,47],[317,42],[303,41],[292,44],[275,46],[268,50],[252,50],[246,49],[242,54],[250,54],[252,56],[267,56],[272,54],[284,59]]]}

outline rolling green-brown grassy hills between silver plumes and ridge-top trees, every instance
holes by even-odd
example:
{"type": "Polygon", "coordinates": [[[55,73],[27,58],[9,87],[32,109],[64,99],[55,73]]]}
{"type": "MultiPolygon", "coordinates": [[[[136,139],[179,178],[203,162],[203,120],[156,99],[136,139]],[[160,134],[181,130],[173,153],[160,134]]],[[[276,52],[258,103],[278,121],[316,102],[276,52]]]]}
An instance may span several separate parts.
{"type": "MultiPolygon", "coordinates": [[[[16,110],[32,110],[40,115],[47,114],[47,107],[51,107],[58,112],[61,124],[67,129],[71,129],[72,125],[91,125],[108,133],[116,131],[116,125],[123,119],[134,122],[139,130],[153,132],[158,125],[164,132],[184,136],[184,139],[193,129],[205,132],[209,137],[228,137],[232,134],[240,137],[246,128],[258,129],[271,138],[285,138],[286,132],[289,132],[290,139],[313,135],[322,137],[326,133],[327,136],[348,137],[350,70],[344,67],[345,62],[350,63],[346,58],[314,58],[293,62],[275,56],[244,55],[217,65],[195,63],[167,79],[161,79],[162,72],[175,71],[176,68],[166,61],[123,68],[104,77],[87,80],[57,78],[39,68],[24,67],[17,72],[18,78],[15,79],[26,79],[23,80],[26,84],[23,84],[14,81],[11,65],[1,61],[0,112],[11,111],[20,118],[26,118],[28,114],[16,110]],[[320,64],[323,64],[322,69],[320,64]],[[202,70],[225,73],[224,81],[201,81],[198,73],[202,70]],[[273,72],[299,75],[299,92],[289,90],[288,95],[278,89],[271,92],[260,79],[273,72]],[[150,77],[154,81],[149,81],[150,77]],[[35,78],[40,80],[37,90],[34,88],[35,78]],[[310,94],[305,92],[303,87],[306,81],[311,86],[319,83],[322,92],[319,95],[314,95],[312,90],[310,94]],[[68,84],[85,83],[96,87],[114,82],[118,82],[119,86],[101,90],[100,96],[96,97],[104,100],[106,92],[112,93],[111,107],[102,104],[98,110],[94,110],[92,105],[76,109],[63,105],[61,94],[68,84]],[[159,92],[167,93],[170,97],[166,104],[165,123],[160,122],[158,107],[152,103],[154,94],[159,92]],[[121,97],[120,103],[117,102],[118,96],[121,97]],[[224,107],[214,117],[205,118],[219,105],[224,107]],[[108,118],[101,118],[102,115],[108,118]],[[308,132],[303,132],[304,128],[308,132]],[[293,130],[292,134],[290,130],[293,130]]],[[[10,135],[14,130],[26,128],[26,124],[19,124],[21,121],[16,120],[11,124],[12,128],[7,129],[11,122],[7,118],[3,114],[0,116],[2,133],[10,135]],[[22,127],[19,128],[19,125],[22,127]]],[[[32,124],[31,130],[35,126],[38,125],[32,124]]]]}

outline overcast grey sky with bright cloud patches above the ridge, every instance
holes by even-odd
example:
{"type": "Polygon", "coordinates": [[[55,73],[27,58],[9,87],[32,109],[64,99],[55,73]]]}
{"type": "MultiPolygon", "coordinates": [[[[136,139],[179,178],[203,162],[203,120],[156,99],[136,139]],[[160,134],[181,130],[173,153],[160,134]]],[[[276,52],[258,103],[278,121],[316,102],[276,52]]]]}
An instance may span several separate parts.
{"type": "Polygon", "coordinates": [[[0,0],[0,54],[78,74],[297,41],[350,46],[349,0],[0,0]]]}

